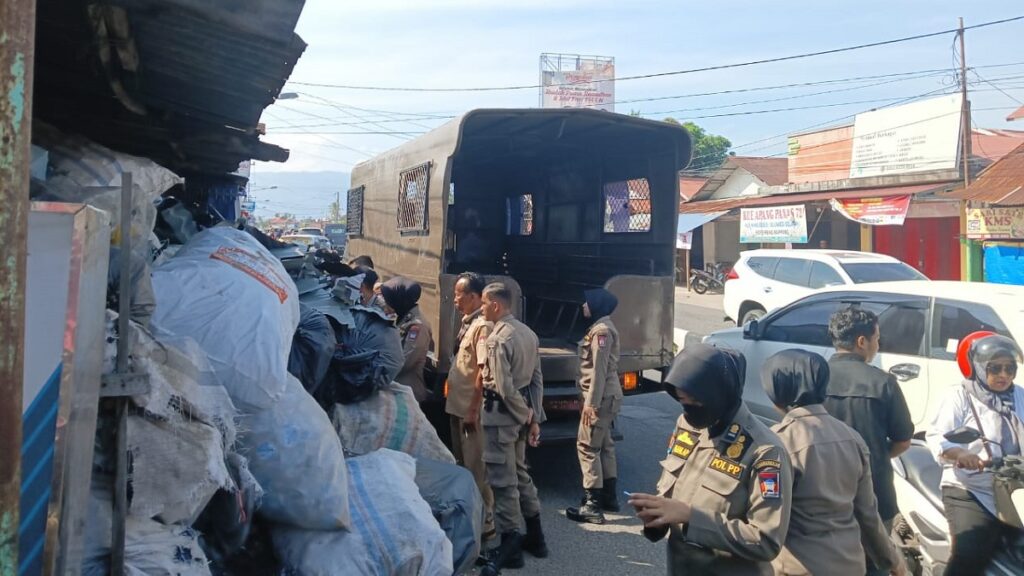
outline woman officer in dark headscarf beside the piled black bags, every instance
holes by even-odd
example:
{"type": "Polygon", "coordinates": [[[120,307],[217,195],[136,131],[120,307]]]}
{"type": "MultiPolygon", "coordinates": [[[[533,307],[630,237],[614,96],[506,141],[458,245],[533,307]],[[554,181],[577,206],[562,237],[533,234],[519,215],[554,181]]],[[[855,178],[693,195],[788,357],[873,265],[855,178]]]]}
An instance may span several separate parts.
{"type": "Polygon", "coordinates": [[[401,348],[406,361],[395,381],[413,388],[417,402],[424,402],[430,396],[423,378],[423,368],[427,364],[427,352],[433,343],[430,324],[420,312],[420,283],[408,278],[396,277],[381,285],[381,295],[387,312],[394,314],[401,348]]]}

